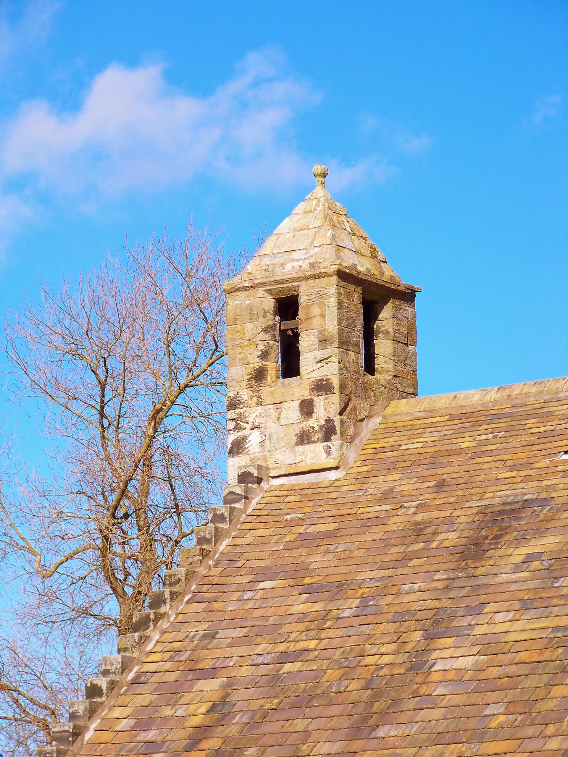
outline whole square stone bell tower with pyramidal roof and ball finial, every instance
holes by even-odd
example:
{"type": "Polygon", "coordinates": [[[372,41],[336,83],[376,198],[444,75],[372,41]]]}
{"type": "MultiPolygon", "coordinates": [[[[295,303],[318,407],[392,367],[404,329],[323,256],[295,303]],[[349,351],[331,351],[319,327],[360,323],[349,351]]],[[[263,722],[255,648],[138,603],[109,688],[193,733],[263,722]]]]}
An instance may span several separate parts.
{"type": "Polygon", "coordinates": [[[420,288],[317,186],[226,282],[229,484],[339,467],[354,425],[417,394],[420,288]],[[239,477],[239,473],[241,474],[239,477]]]}

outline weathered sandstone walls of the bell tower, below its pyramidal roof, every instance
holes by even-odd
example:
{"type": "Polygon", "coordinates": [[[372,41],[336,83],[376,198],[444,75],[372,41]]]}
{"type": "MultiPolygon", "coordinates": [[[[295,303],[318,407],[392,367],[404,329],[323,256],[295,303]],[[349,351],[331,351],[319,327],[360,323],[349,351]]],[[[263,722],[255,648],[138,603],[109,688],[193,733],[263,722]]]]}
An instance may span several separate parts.
{"type": "Polygon", "coordinates": [[[229,484],[253,464],[271,475],[335,467],[355,422],[381,397],[417,394],[414,293],[382,293],[370,376],[362,367],[362,285],[335,272],[291,285],[301,375],[280,378],[278,307],[269,291],[259,282],[228,293],[229,484]]]}

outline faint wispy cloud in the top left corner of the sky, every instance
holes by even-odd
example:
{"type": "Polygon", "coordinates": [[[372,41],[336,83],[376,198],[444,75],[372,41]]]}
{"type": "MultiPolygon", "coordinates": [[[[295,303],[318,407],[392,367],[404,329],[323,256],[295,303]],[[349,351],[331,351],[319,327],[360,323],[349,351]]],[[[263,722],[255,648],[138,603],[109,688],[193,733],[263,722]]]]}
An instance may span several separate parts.
{"type": "Polygon", "coordinates": [[[45,38],[60,5],[56,0],[31,0],[14,12],[10,4],[0,4],[0,71],[9,58],[45,38]]]}

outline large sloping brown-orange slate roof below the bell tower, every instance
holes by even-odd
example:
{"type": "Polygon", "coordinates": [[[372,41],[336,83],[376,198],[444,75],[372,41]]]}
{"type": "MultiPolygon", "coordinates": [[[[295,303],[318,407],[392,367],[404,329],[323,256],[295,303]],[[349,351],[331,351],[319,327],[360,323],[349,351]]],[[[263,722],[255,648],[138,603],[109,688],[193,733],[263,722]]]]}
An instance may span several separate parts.
{"type": "Polygon", "coordinates": [[[568,379],[392,402],[271,485],[71,753],[568,755],[568,379]]]}

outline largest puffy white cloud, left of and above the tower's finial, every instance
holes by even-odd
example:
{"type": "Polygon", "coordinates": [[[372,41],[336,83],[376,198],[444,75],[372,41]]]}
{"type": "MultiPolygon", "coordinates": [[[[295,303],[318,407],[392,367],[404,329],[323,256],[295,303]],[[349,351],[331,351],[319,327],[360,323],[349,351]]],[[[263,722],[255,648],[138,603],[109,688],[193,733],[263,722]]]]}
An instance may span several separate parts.
{"type": "Polygon", "coordinates": [[[251,53],[211,96],[174,91],[164,68],[112,64],[79,110],[24,104],[0,144],[6,177],[28,174],[74,194],[181,185],[196,173],[247,186],[292,184],[304,160],[289,145],[292,118],[318,101],[306,84],[279,75],[273,53],[251,53]]]}

